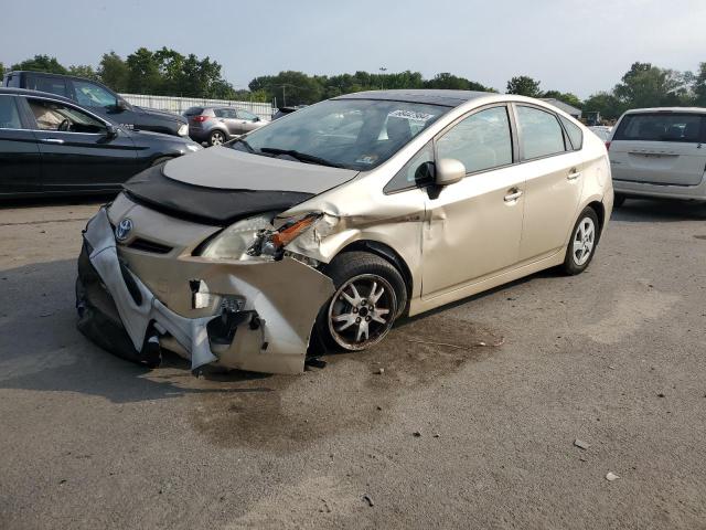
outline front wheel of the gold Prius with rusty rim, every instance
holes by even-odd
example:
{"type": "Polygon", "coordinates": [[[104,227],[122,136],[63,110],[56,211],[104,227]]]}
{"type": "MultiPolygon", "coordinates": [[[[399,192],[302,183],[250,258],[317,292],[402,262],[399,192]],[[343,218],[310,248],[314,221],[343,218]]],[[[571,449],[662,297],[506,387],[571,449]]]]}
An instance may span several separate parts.
{"type": "Polygon", "coordinates": [[[329,331],[346,350],[379,342],[392,328],[397,298],[389,283],[376,274],[345,282],[329,305],[329,331]]]}

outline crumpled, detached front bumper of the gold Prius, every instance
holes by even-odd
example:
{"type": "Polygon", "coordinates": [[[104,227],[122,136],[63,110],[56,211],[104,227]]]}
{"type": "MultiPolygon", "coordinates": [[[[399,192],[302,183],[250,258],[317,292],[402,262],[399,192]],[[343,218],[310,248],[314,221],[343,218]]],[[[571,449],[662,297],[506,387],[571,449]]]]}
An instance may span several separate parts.
{"type": "Polygon", "coordinates": [[[215,362],[268,373],[301,372],[313,322],[334,293],[331,278],[290,257],[213,262],[181,256],[169,263],[173,283],[189,285],[204,278],[217,296],[244,300],[243,318],[233,319],[240,324],[232,340],[216,343],[210,322],[222,318],[221,307],[212,315],[190,318],[160,301],[120,258],[105,209],[88,222],[84,239],[78,328],[105,349],[147,364],[158,362],[157,341],[175,341],[191,359],[192,370],[215,362]]]}

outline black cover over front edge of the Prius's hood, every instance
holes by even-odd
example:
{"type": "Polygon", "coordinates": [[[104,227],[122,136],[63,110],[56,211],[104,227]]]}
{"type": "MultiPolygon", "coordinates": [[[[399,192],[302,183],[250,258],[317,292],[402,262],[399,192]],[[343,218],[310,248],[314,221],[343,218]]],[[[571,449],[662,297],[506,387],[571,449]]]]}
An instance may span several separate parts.
{"type": "Polygon", "coordinates": [[[179,219],[227,226],[263,212],[284,212],[315,193],[233,190],[188,184],[165,177],[164,165],[146,169],[122,187],[135,202],[179,219]]]}

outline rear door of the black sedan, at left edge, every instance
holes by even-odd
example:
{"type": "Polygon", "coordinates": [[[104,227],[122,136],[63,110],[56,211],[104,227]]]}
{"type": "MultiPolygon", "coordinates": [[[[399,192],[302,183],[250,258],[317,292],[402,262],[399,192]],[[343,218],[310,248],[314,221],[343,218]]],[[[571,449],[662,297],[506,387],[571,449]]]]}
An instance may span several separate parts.
{"type": "Polygon", "coordinates": [[[19,100],[0,94],[0,195],[42,191],[40,149],[19,100]]]}

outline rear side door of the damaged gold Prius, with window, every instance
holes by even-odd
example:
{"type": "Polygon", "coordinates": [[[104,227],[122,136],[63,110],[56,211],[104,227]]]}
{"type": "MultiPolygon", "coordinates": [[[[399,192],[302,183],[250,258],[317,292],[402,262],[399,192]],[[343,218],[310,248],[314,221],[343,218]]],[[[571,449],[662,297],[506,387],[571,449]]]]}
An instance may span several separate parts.
{"type": "Polygon", "coordinates": [[[582,152],[574,150],[553,112],[514,104],[521,167],[526,176],[520,261],[563,248],[576,222],[584,180],[582,152]]]}

